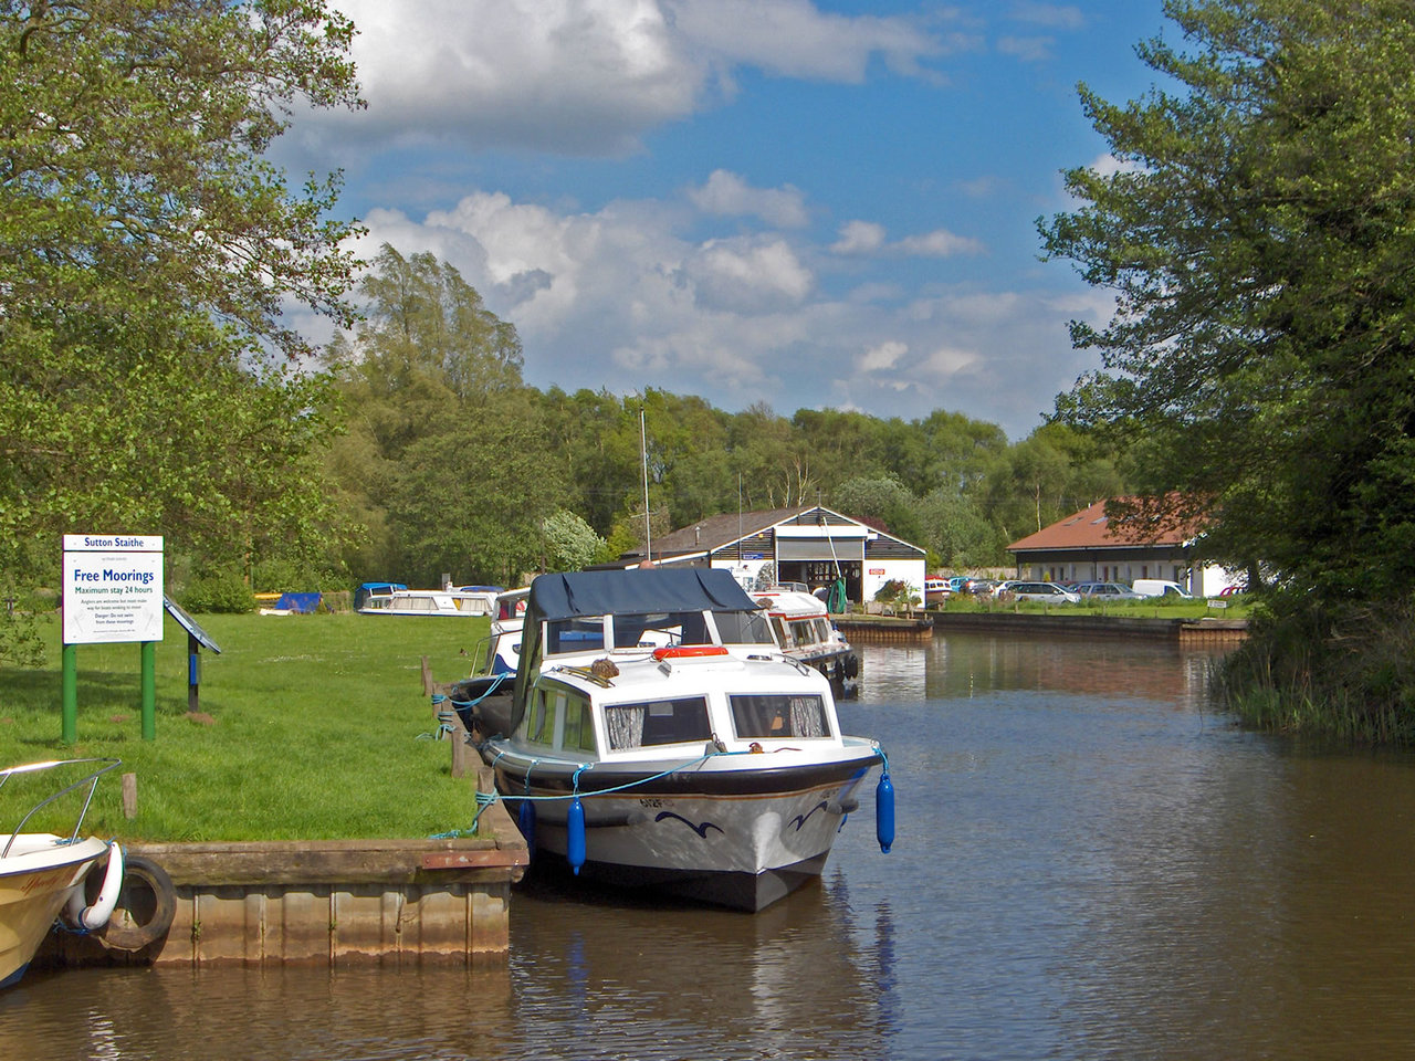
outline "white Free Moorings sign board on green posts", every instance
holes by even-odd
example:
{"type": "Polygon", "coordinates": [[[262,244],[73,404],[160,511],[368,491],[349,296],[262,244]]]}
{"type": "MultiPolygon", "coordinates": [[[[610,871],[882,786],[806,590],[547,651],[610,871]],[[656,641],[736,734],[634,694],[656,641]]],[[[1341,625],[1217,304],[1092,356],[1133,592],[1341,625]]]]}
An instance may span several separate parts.
{"type": "Polygon", "coordinates": [[[161,535],[64,535],[64,644],[161,639],[161,535]]]}

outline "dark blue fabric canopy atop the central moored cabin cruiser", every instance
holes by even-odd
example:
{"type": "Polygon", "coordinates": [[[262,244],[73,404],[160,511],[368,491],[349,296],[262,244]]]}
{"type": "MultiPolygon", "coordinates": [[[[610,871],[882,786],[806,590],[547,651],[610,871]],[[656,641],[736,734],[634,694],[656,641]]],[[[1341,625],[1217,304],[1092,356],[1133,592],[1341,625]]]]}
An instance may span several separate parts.
{"type": "Polygon", "coordinates": [[[732,572],[651,567],[627,572],[542,574],[531,583],[528,628],[542,620],[642,615],[657,611],[756,611],[732,572]]]}

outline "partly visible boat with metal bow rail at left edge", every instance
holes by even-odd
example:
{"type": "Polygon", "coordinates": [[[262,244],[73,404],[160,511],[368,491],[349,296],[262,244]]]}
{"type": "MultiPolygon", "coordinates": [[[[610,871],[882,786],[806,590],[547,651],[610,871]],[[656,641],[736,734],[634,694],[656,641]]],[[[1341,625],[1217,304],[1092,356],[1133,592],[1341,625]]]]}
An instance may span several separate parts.
{"type": "MultiPolygon", "coordinates": [[[[61,911],[69,925],[79,931],[95,931],[108,924],[123,881],[123,852],[116,843],[93,836],[81,837],[79,829],[99,778],[117,764],[117,760],[78,758],[0,770],[0,789],[20,778],[16,781],[18,789],[30,779],[28,775],[42,775],[48,782],[42,795],[25,791],[21,801],[25,811],[18,823],[8,833],[0,833],[0,987],[20,980],[61,911]],[[86,772],[79,779],[65,782],[81,771],[86,772]],[[83,805],[72,832],[25,832],[30,819],[41,809],[85,788],[88,792],[82,796],[83,805]],[[83,880],[105,859],[108,869],[103,887],[98,900],[89,904],[83,894],[83,880]]],[[[24,787],[30,788],[27,784],[24,787]]],[[[10,791],[4,795],[8,796],[10,791]]]]}

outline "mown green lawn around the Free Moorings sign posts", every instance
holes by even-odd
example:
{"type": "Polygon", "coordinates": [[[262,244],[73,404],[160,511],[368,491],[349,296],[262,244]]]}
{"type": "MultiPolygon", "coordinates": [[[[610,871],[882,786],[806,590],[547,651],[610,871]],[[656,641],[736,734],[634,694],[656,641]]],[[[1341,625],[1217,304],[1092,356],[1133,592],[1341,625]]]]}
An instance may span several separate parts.
{"type": "MultiPolygon", "coordinates": [[[[487,620],[197,621],[221,647],[201,651],[197,716],[187,710],[187,634],[168,618],[157,645],[157,738],[142,738],[139,647],[79,645],[74,744],[61,738],[59,624],[47,621],[48,666],[0,668],[0,765],[120,758],[83,830],[125,840],[419,837],[471,826],[473,778],[453,778],[451,744],[432,738],[422,658],[439,682],[467,675],[487,620]],[[122,812],[125,772],[137,775],[132,821],[122,812]]],[[[6,829],[35,792],[21,781],[30,779],[0,789],[6,829]]],[[[44,828],[72,826],[79,804],[69,799],[44,828]]]]}

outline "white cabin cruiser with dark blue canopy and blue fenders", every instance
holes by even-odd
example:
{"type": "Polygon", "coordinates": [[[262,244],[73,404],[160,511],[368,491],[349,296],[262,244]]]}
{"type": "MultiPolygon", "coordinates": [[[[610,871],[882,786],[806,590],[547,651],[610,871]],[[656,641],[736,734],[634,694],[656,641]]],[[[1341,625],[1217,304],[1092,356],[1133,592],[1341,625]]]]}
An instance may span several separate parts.
{"type": "MultiPolygon", "coordinates": [[[[507,733],[478,746],[538,857],[757,911],[819,877],[877,743],[722,570],[542,574],[507,733]]],[[[876,789],[893,842],[887,765],[876,789]]]]}

